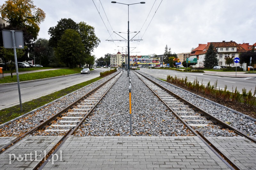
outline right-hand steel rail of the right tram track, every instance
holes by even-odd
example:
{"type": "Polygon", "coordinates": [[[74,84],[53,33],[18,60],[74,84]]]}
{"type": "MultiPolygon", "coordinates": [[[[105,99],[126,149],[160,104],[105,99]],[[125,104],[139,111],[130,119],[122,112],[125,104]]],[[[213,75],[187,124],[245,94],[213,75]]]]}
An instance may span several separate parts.
{"type": "MultiPolygon", "coordinates": [[[[136,72],[136,73],[138,73],[138,72],[136,72]]],[[[140,74],[140,73],[138,73],[138,74],[140,74]]],[[[254,138],[248,136],[248,135],[245,134],[244,132],[242,132],[242,131],[236,129],[235,127],[233,127],[233,126],[231,126],[231,125],[229,125],[229,124],[227,124],[226,122],[220,120],[219,118],[212,116],[210,113],[208,113],[208,112],[206,112],[206,111],[200,109],[199,107],[195,106],[194,104],[188,102],[186,99],[183,99],[182,97],[180,97],[179,95],[173,93],[173,92],[170,91],[169,89],[166,89],[166,88],[163,87],[162,85],[156,83],[155,81],[150,80],[148,77],[144,76],[143,74],[140,74],[140,75],[142,75],[143,77],[145,77],[146,79],[148,79],[148,80],[151,81],[152,83],[156,84],[156,85],[159,86],[161,89],[166,90],[168,93],[170,93],[171,95],[175,96],[177,99],[182,100],[182,101],[184,102],[184,104],[189,105],[193,110],[199,112],[199,113],[201,114],[201,116],[210,117],[212,120],[218,122],[218,124],[220,124],[220,125],[222,125],[222,126],[228,128],[228,129],[230,129],[230,130],[235,131],[236,134],[238,134],[238,135],[240,135],[240,136],[243,136],[243,137],[245,137],[245,138],[251,140],[252,142],[254,142],[254,143],[256,144],[256,139],[254,139],[254,138]]]]}

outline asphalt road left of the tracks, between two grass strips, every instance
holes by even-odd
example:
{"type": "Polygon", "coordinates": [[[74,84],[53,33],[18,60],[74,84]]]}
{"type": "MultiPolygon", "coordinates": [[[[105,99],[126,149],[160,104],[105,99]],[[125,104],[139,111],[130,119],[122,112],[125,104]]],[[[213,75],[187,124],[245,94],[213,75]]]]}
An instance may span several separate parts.
{"type": "MultiPolygon", "coordinates": [[[[108,69],[97,68],[91,71],[90,74],[71,74],[36,81],[20,82],[21,101],[22,103],[28,102],[75,84],[91,80],[99,77],[100,72],[106,70],[108,69]]],[[[17,83],[0,84],[0,96],[0,110],[20,104],[17,83]]]]}

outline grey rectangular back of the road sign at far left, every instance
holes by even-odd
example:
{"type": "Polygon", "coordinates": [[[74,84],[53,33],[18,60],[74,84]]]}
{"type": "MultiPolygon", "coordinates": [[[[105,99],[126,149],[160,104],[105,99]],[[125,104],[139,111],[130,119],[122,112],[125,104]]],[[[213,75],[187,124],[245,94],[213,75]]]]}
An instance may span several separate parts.
{"type": "MultiPolygon", "coordinates": [[[[4,40],[4,48],[12,48],[12,31],[11,30],[2,30],[3,40],[4,40]]],[[[14,31],[14,39],[16,48],[23,49],[24,41],[23,41],[23,32],[22,31],[14,31]]]]}

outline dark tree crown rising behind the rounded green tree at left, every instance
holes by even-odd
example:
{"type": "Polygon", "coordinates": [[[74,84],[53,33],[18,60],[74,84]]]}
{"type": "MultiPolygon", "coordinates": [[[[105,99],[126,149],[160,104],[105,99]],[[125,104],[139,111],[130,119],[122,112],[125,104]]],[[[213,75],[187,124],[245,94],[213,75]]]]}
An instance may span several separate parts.
{"type": "Polygon", "coordinates": [[[61,18],[58,21],[58,24],[55,27],[50,27],[48,30],[48,34],[51,36],[49,39],[49,45],[51,47],[57,47],[58,41],[61,39],[62,34],[68,30],[73,29],[77,30],[78,25],[71,18],[61,18]]]}

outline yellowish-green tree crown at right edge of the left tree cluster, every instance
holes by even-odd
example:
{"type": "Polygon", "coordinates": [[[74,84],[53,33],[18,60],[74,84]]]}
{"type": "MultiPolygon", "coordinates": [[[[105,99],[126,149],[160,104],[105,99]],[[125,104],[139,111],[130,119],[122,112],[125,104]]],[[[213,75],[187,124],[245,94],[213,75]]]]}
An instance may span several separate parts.
{"type": "Polygon", "coordinates": [[[81,36],[82,43],[84,44],[85,53],[91,54],[93,49],[99,45],[100,39],[96,37],[93,26],[87,25],[85,22],[80,22],[77,25],[77,31],[81,36]]]}

